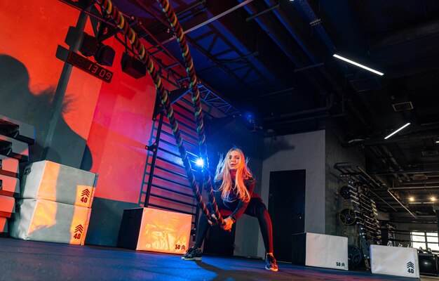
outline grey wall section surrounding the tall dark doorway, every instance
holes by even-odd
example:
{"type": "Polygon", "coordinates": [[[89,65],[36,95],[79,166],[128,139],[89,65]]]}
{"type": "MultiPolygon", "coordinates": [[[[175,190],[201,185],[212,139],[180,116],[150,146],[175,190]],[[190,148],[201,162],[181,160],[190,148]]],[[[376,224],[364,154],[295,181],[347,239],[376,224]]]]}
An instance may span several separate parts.
{"type": "MultiPolygon", "coordinates": [[[[305,232],[324,234],[325,131],[264,139],[262,199],[265,202],[268,202],[271,171],[299,169],[306,170],[305,232]]],[[[258,256],[264,256],[262,237],[259,237],[258,256]]]]}

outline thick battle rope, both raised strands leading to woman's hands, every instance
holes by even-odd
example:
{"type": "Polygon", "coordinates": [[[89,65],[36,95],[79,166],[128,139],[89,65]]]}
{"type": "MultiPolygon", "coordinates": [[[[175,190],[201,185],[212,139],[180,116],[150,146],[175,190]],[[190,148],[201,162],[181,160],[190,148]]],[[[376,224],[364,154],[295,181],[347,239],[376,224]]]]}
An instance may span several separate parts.
{"type": "MultiPolygon", "coordinates": [[[[184,164],[184,169],[186,170],[186,174],[187,174],[189,183],[191,185],[192,191],[194,192],[194,194],[196,196],[196,200],[198,201],[198,204],[200,205],[201,211],[203,211],[203,214],[213,223],[216,223],[218,221],[221,225],[224,225],[224,220],[223,220],[222,216],[219,214],[218,207],[217,207],[217,204],[215,202],[215,197],[213,196],[210,175],[204,176],[205,183],[207,184],[205,186],[206,186],[206,188],[208,188],[209,199],[212,202],[212,207],[213,207],[213,211],[214,211],[216,219],[212,218],[212,216],[210,216],[209,211],[203,202],[203,198],[201,197],[201,193],[198,189],[198,185],[196,184],[194,174],[192,173],[191,163],[189,162],[189,156],[187,155],[186,149],[184,148],[184,145],[183,145],[183,139],[182,139],[182,136],[180,133],[180,129],[178,128],[177,120],[175,119],[175,116],[174,116],[173,107],[172,107],[172,105],[170,105],[170,101],[168,98],[168,92],[166,91],[166,89],[164,88],[164,86],[161,82],[160,75],[158,74],[156,68],[154,67],[153,61],[149,57],[148,53],[145,51],[144,45],[138,39],[135,31],[130,27],[130,25],[128,25],[128,22],[126,22],[125,18],[123,18],[122,13],[118,10],[118,8],[116,8],[116,6],[113,6],[111,0],[97,0],[97,4],[99,4],[102,7],[102,9],[105,11],[105,13],[107,13],[109,15],[109,17],[114,21],[114,23],[119,28],[119,30],[121,30],[121,32],[123,32],[123,34],[126,34],[128,39],[130,40],[131,46],[133,46],[133,48],[135,48],[140,60],[142,60],[144,65],[147,67],[147,70],[148,70],[149,74],[151,75],[151,78],[154,80],[154,84],[156,85],[156,89],[158,90],[158,95],[160,96],[161,103],[162,103],[163,107],[165,107],[166,114],[168,116],[171,128],[173,130],[175,141],[177,143],[177,147],[178,147],[178,150],[180,152],[180,156],[182,157],[182,162],[184,164]]],[[[166,11],[168,11],[168,12],[170,11],[169,12],[170,18],[173,19],[173,21],[176,22],[177,25],[180,27],[180,23],[177,21],[177,17],[175,16],[175,13],[172,11],[172,9],[170,9],[169,3],[166,6],[168,7],[166,9],[166,11]]],[[[180,30],[181,30],[181,27],[180,27],[180,30]]],[[[192,93],[193,93],[192,100],[194,100],[194,107],[195,107],[195,111],[196,111],[195,114],[196,114],[196,121],[197,121],[198,142],[203,145],[203,147],[201,147],[200,150],[203,149],[203,156],[204,156],[205,161],[206,161],[207,166],[208,166],[207,149],[205,148],[204,126],[203,126],[203,119],[202,119],[202,112],[201,112],[201,102],[199,99],[198,85],[196,83],[194,65],[192,63],[191,55],[189,53],[189,48],[187,46],[186,40],[184,39],[184,36],[182,33],[183,32],[181,32],[181,36],[179,36],[179,38],[180,38],[179,43],[181,46],[182,45],[181,41],[184,41],[184,46],[182,48],[182,50],[183,50],[182,55],[183,55],[183,58],[185,60],[186,66],[187,66],[187,72],[188,72],[190,79],[191,79],[190,86],[191,86],[192,93]],[[199,123],[199,120],[201,120],[201,123],[199,123]],[[201,136],[200,136],[200,134],[201,134],[201,136]]],[[[208,169],[206,169],[206,170],[207,170],[207,174],[208,174],[208,169]]],[[[205,175],[206,175],[206,173],[205,173],[205,175]]]]}

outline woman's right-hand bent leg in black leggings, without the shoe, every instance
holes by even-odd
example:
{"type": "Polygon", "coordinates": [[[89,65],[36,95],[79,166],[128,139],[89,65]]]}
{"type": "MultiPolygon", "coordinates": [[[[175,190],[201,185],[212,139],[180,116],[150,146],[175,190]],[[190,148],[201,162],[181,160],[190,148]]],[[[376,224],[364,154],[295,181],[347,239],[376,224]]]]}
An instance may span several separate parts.
{"type": "Polygon", "coordinates": [[[244,214],[257,217],[262,239],[264,240],[265,251],[273,253],[273,226],[271,225],[271,218],[265,204],[259,198],[252,198],[244,214]]]}

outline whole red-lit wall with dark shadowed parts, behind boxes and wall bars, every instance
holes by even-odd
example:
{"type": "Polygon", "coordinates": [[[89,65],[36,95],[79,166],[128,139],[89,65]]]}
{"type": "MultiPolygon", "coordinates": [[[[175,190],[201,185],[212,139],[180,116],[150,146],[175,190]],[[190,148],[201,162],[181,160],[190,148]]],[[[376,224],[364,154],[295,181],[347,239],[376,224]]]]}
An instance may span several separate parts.
{"type": "MultiPolygon", "coordinates": [[[[69,48],[67,31],[79,15],[61,1],[0,1],[0,115],[35,127],[32,162],[49,159],[99,174],[87,237],[90,244],[115,245],[123,209],[142,205],[145,163],[151,159],[145,145],[156,133],[156,89],[148,74],[134,79],[121,71],[124,47],[114,38],[104,41],[116,51],[112,67],[105,67],[114,72],[111,84],[57,58],[59,46],[69,48]],[[58,98],[64,108],[56,115],[58,98]]],[[[93,34],[89,19],[85,31],[93,34]]]]}

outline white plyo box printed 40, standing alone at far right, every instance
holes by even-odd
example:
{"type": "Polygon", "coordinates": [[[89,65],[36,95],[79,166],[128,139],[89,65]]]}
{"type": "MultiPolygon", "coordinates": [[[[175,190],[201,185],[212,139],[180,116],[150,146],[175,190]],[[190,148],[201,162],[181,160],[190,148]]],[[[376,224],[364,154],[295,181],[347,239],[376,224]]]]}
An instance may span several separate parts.
{"type": "Polygon", "coordinates": [[[372,273],[419,278],[417,249],[370,245],[372,273]]]}

